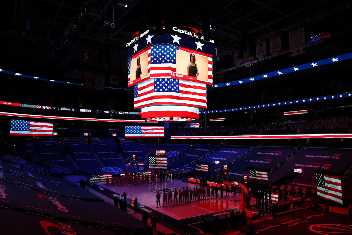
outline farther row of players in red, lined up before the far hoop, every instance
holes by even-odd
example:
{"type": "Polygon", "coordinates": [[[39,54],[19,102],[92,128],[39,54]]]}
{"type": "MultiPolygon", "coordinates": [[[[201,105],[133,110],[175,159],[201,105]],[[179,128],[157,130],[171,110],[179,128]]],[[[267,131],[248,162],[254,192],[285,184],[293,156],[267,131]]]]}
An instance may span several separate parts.
{"type": "MultiPolygon", "coordinates": [[[[168,175],[168,178],[172,179],[172,175],[169,174],[168,175]]],[[[110,182],[110,179],[108,177],[106,177],[106,180],[105,180],[105,185],[106,186],[109,186],[109,182],[110,182]]],[[[160,173],[157,173],[157,174],[153,174],[153,173],[150,173],[150,174],[127,174],[127,175],[124,175],[124,177],[116,177],[116,186],[125,186],[125,185],[129,185],[129,184],[132,184],[132,185],[136,185],[136,184],[147,184],[147,183],[155,183],[155,182],[161,182],[161,174],[160,173]],[[120,183],[119,183],[120,181],[120,183]]],[[[111,186],[115,186],[115,178],[112,177],[111,178],[111,186]]]]}

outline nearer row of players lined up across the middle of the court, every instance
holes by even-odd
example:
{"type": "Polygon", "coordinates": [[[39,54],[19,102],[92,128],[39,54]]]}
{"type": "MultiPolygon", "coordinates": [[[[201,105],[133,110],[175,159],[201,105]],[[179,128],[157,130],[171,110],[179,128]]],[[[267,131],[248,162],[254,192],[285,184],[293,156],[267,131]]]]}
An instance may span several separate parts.
{"type": "MultiPolygon", "coordinates": [[[[207,199],[209,200],[210,198],[210,186],[209,184],[207,185],[207,187],[193,187],[188,189],[188,187],[184,188],[182,187],[182,189],[177,190],[177,188],[175,188],[174,191],[174,205],[179,205],[179,204],[184,204],[184,203],[189,203],[189,202],[194,202],[196,200],[206,200],[206,195],[205,193],[207,192],[207,199]],[[177,196],[178,196],[178,200],[177,200],[177,196]],[[193,198],[192,198],[193,196],[193,198]]],[[[216,192],[217,194],[217,192],[216,192]]],[[[218,195],[216,195],[216,198],[218,197],[218,195]]],[[[156,207],[159,208],[159,206],[161,207],[160,204],[160,198],[161,198],[161,194],[158,193],[156,194],[156,207]]],[[[169,192],[164,193],[163,194],[163,207],[170,205],[171,202],[171,206],[172,206],[172,191],[169,190],[169,192]]]]}

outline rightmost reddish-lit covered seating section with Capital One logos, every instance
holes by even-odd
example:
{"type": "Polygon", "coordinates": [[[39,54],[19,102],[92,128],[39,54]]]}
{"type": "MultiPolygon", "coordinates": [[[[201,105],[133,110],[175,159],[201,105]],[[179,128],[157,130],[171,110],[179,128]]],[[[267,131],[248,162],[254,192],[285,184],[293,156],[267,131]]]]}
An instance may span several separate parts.
{"type": "Polygon", "coordinates": [[[295,157],[269,175],[268,183],[274,183],[282,178],[290,178],[286,186],[298,188],[316,187],[315,169],[327,169],[342,173],[352,162],[350,149],[338,148],[304,148],[295,157]],[[302,169],[295,173],[294,168],[302,169]]]}

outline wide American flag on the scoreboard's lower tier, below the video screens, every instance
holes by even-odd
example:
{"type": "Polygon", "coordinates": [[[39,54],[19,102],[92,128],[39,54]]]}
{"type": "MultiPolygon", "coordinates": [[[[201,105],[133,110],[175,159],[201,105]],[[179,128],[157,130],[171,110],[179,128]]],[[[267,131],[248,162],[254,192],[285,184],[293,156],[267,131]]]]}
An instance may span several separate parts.
{"type": "Polygon", "coordinates": [[[134,109],[165,104],[206,108],[206,85],[174,78],[149,79],[134,85],[134,109]]]}

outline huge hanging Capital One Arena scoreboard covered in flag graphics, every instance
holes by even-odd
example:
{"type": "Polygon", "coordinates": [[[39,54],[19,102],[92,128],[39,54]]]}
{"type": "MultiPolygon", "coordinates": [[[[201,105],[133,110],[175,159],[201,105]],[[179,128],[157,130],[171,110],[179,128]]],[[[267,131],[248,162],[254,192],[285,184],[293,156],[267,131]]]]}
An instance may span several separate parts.
{"type": "Polygon", "coordinates": [[[152,30],[134,36],[126,45],[134,109],[147,119],[199,119],[207,108],[207,85],[213,86],[214,41],[204,42],[198,30],[185,26],[163,37],[152,30]]]}

